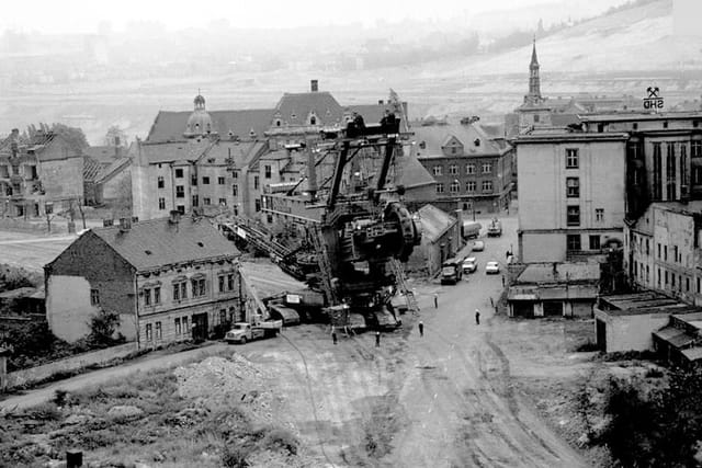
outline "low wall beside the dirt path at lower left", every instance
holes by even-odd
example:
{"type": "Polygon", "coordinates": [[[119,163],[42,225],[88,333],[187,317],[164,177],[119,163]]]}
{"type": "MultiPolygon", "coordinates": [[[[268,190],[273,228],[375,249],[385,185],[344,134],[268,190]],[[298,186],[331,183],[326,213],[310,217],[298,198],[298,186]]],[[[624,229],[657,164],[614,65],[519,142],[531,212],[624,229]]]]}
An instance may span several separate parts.
{"type": "MultiPolygon", "coordinates": [[[[78,354],[53,363],[44,364],[29,369],[16,370],[7,375],[7,388],[29,386],[46,380],[57,373],[76,372],[88,366],[100,366],[113,359],[125,357],[137,350],[136,343],[126,343],[118,346],[106,347],[104,350],[91,351],[78,354]]],[[[1,370],[1,369],[0,369],[1,370]]],[[[0,377],[0,381],[2,378],[0,377]]],[[[1,389],[1,387],[0,387],[1,389]]]]}

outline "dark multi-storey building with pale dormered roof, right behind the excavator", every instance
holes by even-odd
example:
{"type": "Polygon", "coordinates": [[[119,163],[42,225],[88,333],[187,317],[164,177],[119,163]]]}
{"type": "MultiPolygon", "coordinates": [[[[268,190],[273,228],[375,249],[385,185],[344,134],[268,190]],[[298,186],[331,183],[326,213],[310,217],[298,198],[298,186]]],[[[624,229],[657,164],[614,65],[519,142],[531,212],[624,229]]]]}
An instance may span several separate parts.
{"type": "Polygon", "coordinates": [[[435,180],[431,202],[451,212],[496,213],[509,206],[514,150],[477,123],[412,128],[416,157],[435,180]]]}

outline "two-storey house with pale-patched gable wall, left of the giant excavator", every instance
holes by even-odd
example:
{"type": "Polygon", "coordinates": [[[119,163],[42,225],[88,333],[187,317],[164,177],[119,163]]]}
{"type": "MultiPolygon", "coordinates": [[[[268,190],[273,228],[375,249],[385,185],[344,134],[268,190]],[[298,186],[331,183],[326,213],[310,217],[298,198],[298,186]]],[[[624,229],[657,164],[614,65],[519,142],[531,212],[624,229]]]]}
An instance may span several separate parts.
{"type": "Polygon", "coordinates": [[[139,347],[206,338],[240,319],[237,256],[207,219],[178,212],[92,229],[44,267],[49,328],[76,341],[105,310],[139,347]]]}

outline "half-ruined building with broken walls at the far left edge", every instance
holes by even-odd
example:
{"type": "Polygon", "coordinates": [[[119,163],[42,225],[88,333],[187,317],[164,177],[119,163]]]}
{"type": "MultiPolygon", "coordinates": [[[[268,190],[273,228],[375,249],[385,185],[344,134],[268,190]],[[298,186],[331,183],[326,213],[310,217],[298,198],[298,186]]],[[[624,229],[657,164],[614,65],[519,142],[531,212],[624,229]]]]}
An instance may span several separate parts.
{"type": "Polygon", "coordinates": [[[0,150],[0,216],[37,217],[83,197],[83,157],[60,135],[38,132],[29,142],[13,129],[0,150]]]}

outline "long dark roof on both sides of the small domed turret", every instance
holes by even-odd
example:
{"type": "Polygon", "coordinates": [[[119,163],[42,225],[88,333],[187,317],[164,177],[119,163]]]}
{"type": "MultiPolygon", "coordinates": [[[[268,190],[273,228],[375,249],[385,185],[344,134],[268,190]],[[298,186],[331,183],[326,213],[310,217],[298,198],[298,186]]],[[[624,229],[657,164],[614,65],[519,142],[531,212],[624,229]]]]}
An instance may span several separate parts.
{"type": "MultiPolygon", "coordinates": [[[[184,141],[185,125],[192,111],[160,111],[151,125],[146,141],[184,141]]],[[[208,111],[217,135],[222,139],[229,138],[229,133],[242,140],[251,139],[251,130],[262,137],[272,123],[273,111],[270,109],[250,109],[242,111],[208,111]]]]}

